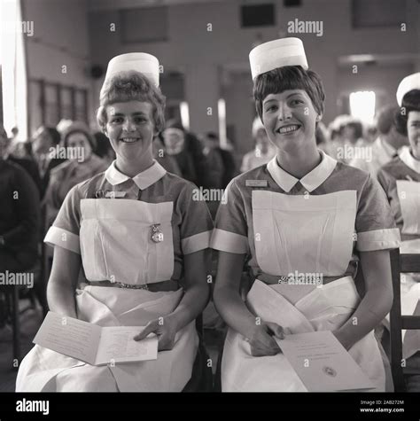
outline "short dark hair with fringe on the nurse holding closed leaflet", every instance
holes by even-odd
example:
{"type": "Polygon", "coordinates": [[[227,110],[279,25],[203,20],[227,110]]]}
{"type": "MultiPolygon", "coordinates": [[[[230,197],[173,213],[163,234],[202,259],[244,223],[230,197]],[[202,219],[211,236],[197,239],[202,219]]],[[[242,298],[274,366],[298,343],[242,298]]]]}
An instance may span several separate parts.
{"type": "Polygon", "coordinates": [[[265,97],[284,90],[305,90],[316,112],[323,114],[325,93],[319,75],[312,70],[305,70],[302,66],[284,66],[259,74],[253,82],[253,98],[261,121],[262,102],[265,97]]]}

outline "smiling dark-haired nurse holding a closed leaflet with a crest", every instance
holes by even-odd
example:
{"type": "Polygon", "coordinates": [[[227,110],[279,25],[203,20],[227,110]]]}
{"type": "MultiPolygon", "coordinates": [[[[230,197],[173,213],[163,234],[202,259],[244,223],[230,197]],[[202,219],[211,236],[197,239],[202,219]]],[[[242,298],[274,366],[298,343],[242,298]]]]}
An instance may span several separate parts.
{"type": "Polygon", "coordinates": [[[307,391],[273,336],[332,331],[374,390],[384,391],[374,329],[392,306],[389,249],[400,245],[384,191],[368,173],[316,148],[323,85],[298,38],[263,43],[250,62],[276,157],[229,183],[216,218],[214,303],[229,325],[222,390],[307,391]],[[244,262],[254,278],[245,302],[244,262]]]}

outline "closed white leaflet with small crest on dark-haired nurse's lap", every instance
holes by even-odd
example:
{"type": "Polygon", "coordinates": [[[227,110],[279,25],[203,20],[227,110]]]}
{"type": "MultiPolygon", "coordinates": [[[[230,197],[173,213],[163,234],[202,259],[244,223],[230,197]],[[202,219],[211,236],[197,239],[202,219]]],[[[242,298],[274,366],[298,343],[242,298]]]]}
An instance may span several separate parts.
{"type": "Polygon", "coordinates": [[[276,341],[309,392],[375,387],[331,331],[286,335],[276,341]]]}

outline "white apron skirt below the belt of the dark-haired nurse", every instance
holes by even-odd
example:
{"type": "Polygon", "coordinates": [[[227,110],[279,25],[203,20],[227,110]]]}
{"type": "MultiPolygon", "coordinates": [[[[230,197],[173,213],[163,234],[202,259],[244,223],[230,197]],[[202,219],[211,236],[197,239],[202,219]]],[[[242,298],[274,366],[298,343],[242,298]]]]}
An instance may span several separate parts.
{"type": "MultiPolygon", "coordinates": [[[[346,323],[359,303],[352,277],[315,287],[294,305],[282,296],[283,286],[255,280],[247,304],[263,321],[288,327],[292,333],[333,331],[346,323]]],[[[385,391],[385,369],[374,332],[354,344],[349,353],[376,386],[375,391],[385,391]]],[[[222,390],[307,392],[283,354],[253,357],[250,344],[232,330],[223,349],[222,390]]]]}

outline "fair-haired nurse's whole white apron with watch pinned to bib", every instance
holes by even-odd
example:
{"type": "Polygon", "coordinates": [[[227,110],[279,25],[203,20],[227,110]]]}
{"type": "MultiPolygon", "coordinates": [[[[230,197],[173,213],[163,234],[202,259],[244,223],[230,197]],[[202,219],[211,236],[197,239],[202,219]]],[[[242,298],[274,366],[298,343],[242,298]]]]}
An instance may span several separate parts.
{"type": "MultiPolygon", "coordinates": [[[[172,202],[82,199],[80,241],[87,279],[132,285],[170,279],[174,269],[172,206],[172,202]],[[156,223],[163,233],[159,243],[151,239],[156,223]]],[[[150,292],[89,285],[77,290],[75,299],[81,320],[101,326],[144,326],[173,312],[182,297],[182,289],[150,292]]],[[[159,352],[153,361],[91,366],[35,346],[20,364],[16,390],[179,392],[191,378],[197,349],[194,322],[176,333],[172,350],[159,352]]]]}

